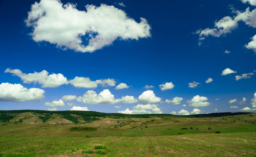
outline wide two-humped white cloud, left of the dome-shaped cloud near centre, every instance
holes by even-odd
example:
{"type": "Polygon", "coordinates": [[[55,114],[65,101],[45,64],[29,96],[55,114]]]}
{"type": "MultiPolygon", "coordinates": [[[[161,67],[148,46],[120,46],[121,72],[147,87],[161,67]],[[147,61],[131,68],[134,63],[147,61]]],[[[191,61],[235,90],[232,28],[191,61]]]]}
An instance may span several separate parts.
{"type": "Polygon", "coordinates": [[[87,91],[83,97],[77,97],[77,101],[84,104],[116,104],[122,99],[115,99],[108,89],[104,89],[99,95],[95,91],[87,91]]]}

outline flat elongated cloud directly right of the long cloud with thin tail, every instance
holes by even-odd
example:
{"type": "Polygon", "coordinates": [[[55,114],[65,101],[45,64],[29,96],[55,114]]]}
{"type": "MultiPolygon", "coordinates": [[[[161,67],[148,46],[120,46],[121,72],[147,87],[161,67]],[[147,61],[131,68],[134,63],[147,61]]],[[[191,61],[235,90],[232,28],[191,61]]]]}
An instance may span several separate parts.
{"type": "Polygon", "coordinates": [[[89,77],[78,77],[76,76],[73,80],[70,80],[69,83],[74,87],[78,88],[96,88],[100,84],[101,86],[115,86],[116,81],[114,79],[101,79],[96,81],[91,81],[89,77]]]}

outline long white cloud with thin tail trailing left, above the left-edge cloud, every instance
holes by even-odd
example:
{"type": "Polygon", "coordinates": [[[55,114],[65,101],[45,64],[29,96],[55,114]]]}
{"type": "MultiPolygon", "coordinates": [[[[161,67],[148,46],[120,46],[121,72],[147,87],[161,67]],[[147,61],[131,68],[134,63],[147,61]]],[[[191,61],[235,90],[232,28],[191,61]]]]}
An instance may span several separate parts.
{"type": "Polygon", "coordinates": [[[42,87],[58,87],[63,84],[68,84],[67,78],[63,76],[63,74],[50,74],[46,71],[43,70],[42,72],[34,72],[34,73],[29,73],[25,74],[22,73],[21,70],[18,69],[6,69],[4,71],[5,73],[13,73],[13,75],[16,75],[18,77],[21,77],[23,80],[23,83],[39,83],[42,84],[42,87]]]}

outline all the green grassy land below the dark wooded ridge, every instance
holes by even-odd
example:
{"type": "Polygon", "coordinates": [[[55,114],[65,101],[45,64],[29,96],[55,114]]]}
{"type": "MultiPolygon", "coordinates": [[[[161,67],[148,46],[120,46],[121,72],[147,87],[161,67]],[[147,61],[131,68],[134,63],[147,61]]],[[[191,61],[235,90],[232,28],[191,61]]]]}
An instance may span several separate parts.
{"type": "Polygon", "coordinates": [[[76,123],[59,114],[7,116],[12,119],[0,123],[0,156],[256,156],[256,114],[90,121],[73,115],[76,123]]]}

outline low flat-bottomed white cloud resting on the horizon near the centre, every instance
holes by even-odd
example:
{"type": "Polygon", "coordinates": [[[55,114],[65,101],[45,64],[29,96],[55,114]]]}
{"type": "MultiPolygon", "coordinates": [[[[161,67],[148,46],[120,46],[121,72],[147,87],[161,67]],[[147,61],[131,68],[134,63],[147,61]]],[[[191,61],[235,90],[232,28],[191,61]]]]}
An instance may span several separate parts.
{"type": "Polygon", "coordinates": [[[134,106],[132,110],[127,108],[123,111],[118,111],[118,113],[121,114],[162,114],[162,111],[160,108],[158,108],[157,104],[138,104],[137,106],[134,106]]]}

